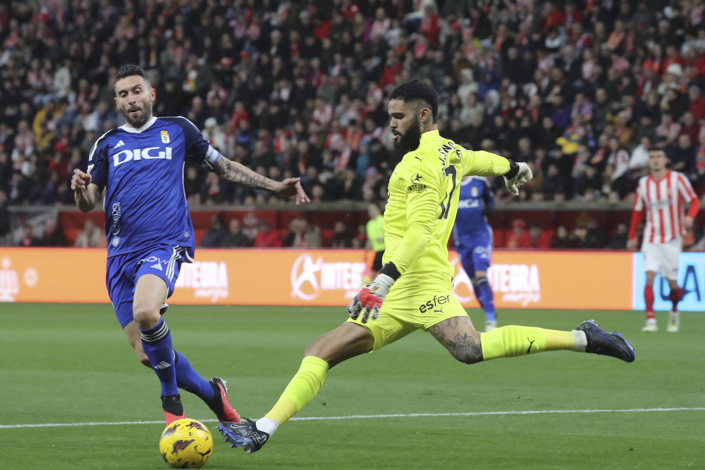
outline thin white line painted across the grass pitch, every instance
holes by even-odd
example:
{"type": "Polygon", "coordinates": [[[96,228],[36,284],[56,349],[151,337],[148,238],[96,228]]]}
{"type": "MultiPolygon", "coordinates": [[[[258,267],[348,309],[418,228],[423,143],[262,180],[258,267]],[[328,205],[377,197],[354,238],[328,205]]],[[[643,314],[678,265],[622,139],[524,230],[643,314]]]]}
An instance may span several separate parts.
{"type": "MultiPolygon", "coordinates": [[[[370,418],[433,418],[438,416],[498,416],[513,414],[568,414],[568,413],[646,413],[646,412],[702,412],[705,407],[697,408],[631,408],[631,409],[533,409],[514,412],[467,412],[467,413],[399,413],[399,414],[353,414],[351,416],[302,416],[291,421],[321,421],[329,419],[370,419],[370,418]]],[[[215,423],[215,419],[201,419],[204,423],[215,423]]],[[[14,428],[53,428],[58,426],[115,426],[122,424],[161,424],[160,421],[117,421],[88,423],[38,423],[38,424],[0,424],[0,429],[14,428]]]]}

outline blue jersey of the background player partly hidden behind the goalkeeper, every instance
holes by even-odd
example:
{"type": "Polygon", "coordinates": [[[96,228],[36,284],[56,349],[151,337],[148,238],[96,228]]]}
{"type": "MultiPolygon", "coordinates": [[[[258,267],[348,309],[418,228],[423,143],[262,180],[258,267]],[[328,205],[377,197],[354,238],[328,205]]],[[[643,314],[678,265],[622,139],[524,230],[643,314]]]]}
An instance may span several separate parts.
{"type": "Polygon", "coordinates": [[[494,194],[482,176],[470,176],[460,182],[458,215],[453,226],[455,246],[476,247],[491,243],[492,228],[486,214],[494,211],[494,194]]]}

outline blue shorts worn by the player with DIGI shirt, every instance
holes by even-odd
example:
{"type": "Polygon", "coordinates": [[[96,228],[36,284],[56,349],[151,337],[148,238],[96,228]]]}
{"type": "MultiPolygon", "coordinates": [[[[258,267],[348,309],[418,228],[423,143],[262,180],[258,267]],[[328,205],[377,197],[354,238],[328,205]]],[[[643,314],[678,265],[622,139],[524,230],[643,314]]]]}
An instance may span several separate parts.
{"type": "Polygon", "coordinates": [[[169,245],[156,245],[108,258],[105,283],[121,328],[133,321],[132,304],[137,279],[143,274],[159,276],[168,287],[166,297],[171,297],[183,262],[191,262],[186,249],[169,245]]]}

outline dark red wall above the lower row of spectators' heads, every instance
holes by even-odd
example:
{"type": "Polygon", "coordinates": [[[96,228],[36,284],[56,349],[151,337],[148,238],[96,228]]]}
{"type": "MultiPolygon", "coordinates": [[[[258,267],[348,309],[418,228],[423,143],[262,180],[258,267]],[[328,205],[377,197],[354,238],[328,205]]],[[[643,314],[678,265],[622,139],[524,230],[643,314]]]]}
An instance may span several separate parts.
{"type": "MultiPolygon", "coordinates": [[[[0,236],[0,245],[20,246],[25,225],[29,224],[35,236],[42,237],[44,223],[48,219],[59,222],[62,233],[66,238],[66,246],[73,246],[79,233],[82,232],[88,219],[94,221],[98,227],[105,222],[105,212],[102,207],[83,213],[72,206],[10,206],[11,234],[0,236]]],[[[200,245],[203,235],[207,232],[211,218],[220,216],[228,226],[231,219],[245,221],[246,218],[264,220],[271,228],[277,230],[281,237],[289,232],[290,222],[294,218],[304,218],[311,225],[321,229],[321,238],[324,247],[329,247],[333,236],[333,227],[336,221],[342,221],[350,233],[357,233],[358,226],[364,225],[369,220],[366,202],[324,202],[291,206],[290,204],[264,206],[247,206],[233,209],[231,205],[202,206],[190,208],[191,219],[194,226],[196,245],[200,245]]],[[[551,245],[556,228],[565,225],[570,230],[582,226],[587,221],[594,219],[606,231],[608,237],[615,234],[617,225],[630,223],[632,206],[628,202],[606,204],[605,202],[498,202],[496,213],[489,218],[494,231],[494,247],[506,247],[508,237],[513,231],[513,222],[517,219],[525,221],[527,225],[538,224],[542,228],[539,242],[541,246],[551,245]]],[[[701,211],[699,224],[705,223],[705,211],[701,211]]],[[[450,240],[452,247],[452,238],[450,240]]]]}

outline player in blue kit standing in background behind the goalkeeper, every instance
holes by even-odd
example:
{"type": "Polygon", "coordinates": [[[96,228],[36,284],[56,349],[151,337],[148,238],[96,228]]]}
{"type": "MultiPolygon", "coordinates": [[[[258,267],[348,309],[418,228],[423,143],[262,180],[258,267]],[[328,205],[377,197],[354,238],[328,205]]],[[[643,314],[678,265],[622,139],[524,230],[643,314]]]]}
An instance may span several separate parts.
{"type": "Polygon", "coordinates": [[[472,288],[485,311],[485,331],[497,326],[494,294],[487,280],[492,256],[492,228],[487,218],[494,214],[494,194],[482,176],[469,176],[460,182],[458,216],[453,226],[453,242],[460,263],[472,280],[472,288]]]}

